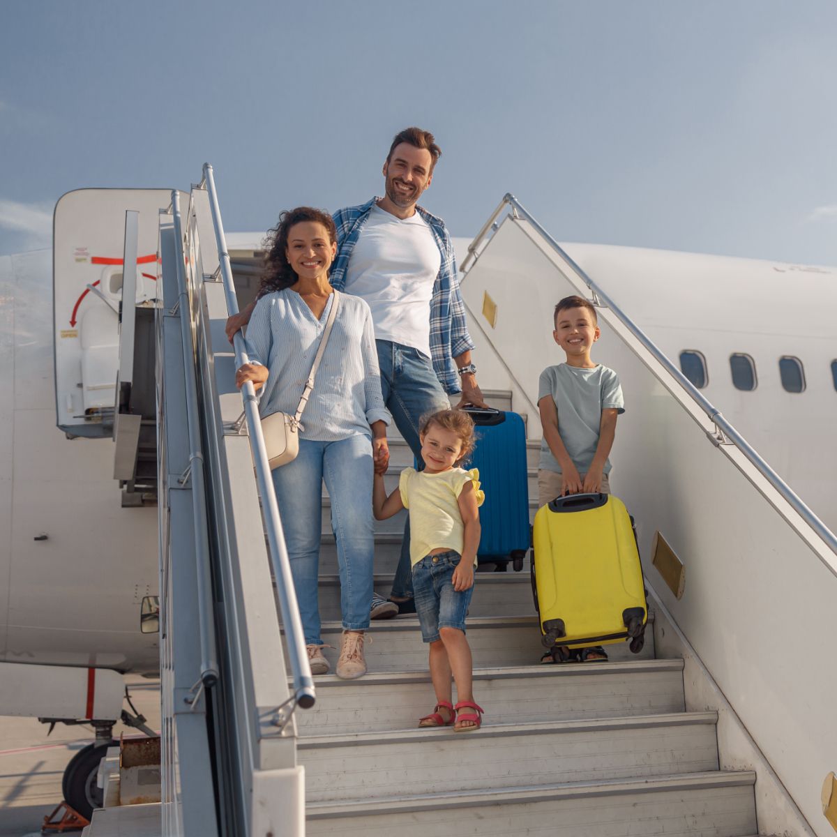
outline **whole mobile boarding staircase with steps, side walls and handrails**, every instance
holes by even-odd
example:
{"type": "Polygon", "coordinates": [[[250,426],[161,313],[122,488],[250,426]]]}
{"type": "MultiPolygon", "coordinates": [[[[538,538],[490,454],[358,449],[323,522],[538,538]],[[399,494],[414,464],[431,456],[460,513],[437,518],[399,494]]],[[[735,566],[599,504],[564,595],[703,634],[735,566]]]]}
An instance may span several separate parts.
{"type": "MultiPolygon", "coordinates": [[[[239,420],[243,347],[223,326],[244,274],[211,167],[172,193],[160,258],[163,834],[832,833],[820,792],[837,678],[808,651],[833,636],[834,536],[514,198],[463,265],[480,384],[527,415],[533,514],[552,307],[593,300],[596,359],[626,393],[613,485],[638,524],[654,629],[639,655],[614,645],[607,663],[538,665],[528,573],[478,574],[469,638],[486,716],[465,735],[415,728],[434,703],[415,617],[372,623],[369,674],[318,677],[315,700],[252,392],[239,420]]],[[[391,436],[388,490],[412,463],[391,436]]],[[[321,614],[337,645],[323,507],[321,614]]],[[[382,593],[402,526],[376,524],[382,593]]]]}

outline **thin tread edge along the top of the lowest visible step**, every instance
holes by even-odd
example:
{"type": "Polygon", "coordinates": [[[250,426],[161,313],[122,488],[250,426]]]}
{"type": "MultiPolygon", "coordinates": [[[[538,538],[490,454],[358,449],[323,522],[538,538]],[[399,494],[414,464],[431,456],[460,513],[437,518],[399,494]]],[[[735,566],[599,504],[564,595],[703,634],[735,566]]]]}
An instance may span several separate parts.
{"type": "Polygon", "coordinates": [[[523,788],[480,788],[452,793],[404,794],[397,797],[366,798],[361,801],[311,802],[306,804],[310,819],[369,814],[397,814],[427,809],[477,807],[485,804],[521,804],[545,798],[602,797],[651,791],[725,788],[753,785],[756,774],[750,770],[712,770],[699,773],[670,773],[648,778],[619,778],[585,782],[530,785],[523,788]]]}

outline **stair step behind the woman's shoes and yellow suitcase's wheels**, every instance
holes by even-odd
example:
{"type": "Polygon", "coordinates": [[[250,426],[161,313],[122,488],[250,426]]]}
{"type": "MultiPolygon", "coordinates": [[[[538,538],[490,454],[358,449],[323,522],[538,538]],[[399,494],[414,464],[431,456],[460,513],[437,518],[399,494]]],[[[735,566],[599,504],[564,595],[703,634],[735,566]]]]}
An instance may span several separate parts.
{"type": "MultiPolygon", "coordinates": [[[[653,622],[653,612],[649,621],[653,622]]],[[[501,617],[469,617],[467,621],[468,643],[476,668],[498,668],[504,665],[536,665],[541,659],[543,646],[537,617],[533,615],[501,617]]],[[[323,653],[336,665],[337,648],[340,645],[342,626],[339,622],[322,624],[322,640],[335,648],[323,653]]],[[[426,671],[427,645],[422,642],[419,619],[415,616],[398,616],[372,622],[364,652],[370,672],[378,671],[426,671]]],[[[639,654],[631,654],[625,642],[607,646],[613,662],[622,660],[654,659],[654,632],[645,631],[645,647],[639,654]]],[[[285,655],[287,660],[287,655],[285,655]]],[[[586,665],[596,665],[587,663],[586,665]]],[[[319,680],[319,678],[317,678],[319,680]]],[[[424,714],[424,713],[423,713],[424,714]]]]}

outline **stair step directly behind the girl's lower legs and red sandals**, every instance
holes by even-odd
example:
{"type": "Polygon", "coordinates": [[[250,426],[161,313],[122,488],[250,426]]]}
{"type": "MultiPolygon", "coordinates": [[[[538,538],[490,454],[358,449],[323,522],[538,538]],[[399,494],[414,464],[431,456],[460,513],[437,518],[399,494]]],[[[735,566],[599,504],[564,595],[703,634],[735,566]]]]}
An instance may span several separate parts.
{"type": "MultiPolygon", "coordinates": [[[[655,715],[686,710],[683,660],[526,665],[478,669],[477,702],[492,718],[519,723],[655,715]]],[[[376,672],[361,680],[316,678],[316,704],[296,712],[300,735],[415,727],[433,711],[430,675],[376,672]]]]}

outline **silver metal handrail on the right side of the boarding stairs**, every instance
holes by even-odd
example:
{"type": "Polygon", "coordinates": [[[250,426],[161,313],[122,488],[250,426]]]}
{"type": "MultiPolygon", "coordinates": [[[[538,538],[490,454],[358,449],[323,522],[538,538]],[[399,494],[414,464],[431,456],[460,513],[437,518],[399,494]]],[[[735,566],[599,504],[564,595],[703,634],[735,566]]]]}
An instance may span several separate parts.
{"type": "MultiPolygon", "coordinates": [[[[531,213],[526,210],[526,208],[520,201],[517,200],[517,198],[515,198],[514,195],[506,193],[500,203],[500,206],[496,208],[483,228],[480,229],[480,233],[477,234],[476,238],[469,244],[468,255],[465,256],[465,259],[462,262],[461,270],[463,272],[469,270],[470,266],[474,264],[476,259],[479,259],[481,250],[478,248],[482,243],[482,239],[485,239],[485,235],[488,233],[488,230],[506,206],[511,207],[515,218],[524,218],[528,223],[531,223],[531,226],[537,230],[538,234],[540,234],[542,238],[550,244],[552,249],[554,249],[555,252],[573,269],[575,274],[578,275],[578,278],[588,286],[588,289],[593,295],[593,299],[601,306],[604,306],[614,312],[614,315],[619,318],[624,326],[627,326],[631,334],[643,345],[645,349],[651,353],[651,355],[654,356],[655,360],[659,362],[661,366],[665,367],[665,371],[669,372],[670,375],[675,378],[677,383],[679,383],[680,386],[686,390],[686,393],[688,393],[701,410],[706,413],[708,419],[710,419],[710,421],[715,424],[716,428],[720,430],[724,436],[726,436],[727,440],[734,444],[737,449],[744,454],[747,460],[749,460],[750,463],[757,468],[763,477],[765,477],[765,479],[773,485],[773,488],[778,491],[783,499],[788,502],[788,504],[793,508],[793,511],[796,511],[796,513],[817,533],[817,535],[822,538],[831,551],[837,554],[837,537],[834,536],[834,532],[832,532],[829,527],[826,526],[813,511],[811,511],[802,498],[798,496],[798,494],[782,479],[782,477],[776,473],[776,471],[773,470],[773,468],[770,467],[770,465],[768,465],[767,461],[757,453],[756,449],[754,449],[746,439],[744,439],[742,434],[740,434],[737,429],[735,429],[735,427],[724,418],[721,411],[717,409],[693,383],[691,383],[683,372],[680,372],[680,369],[675,367],[674,363],[672,363],[669,357],[667,357],[665,353],[655,345],[654,341],[652,341],[650,337],[647,336],[644,331],[642,331],[639,326],[637,326],[637,324],[631,320],[631,318],[627,316],[624,311],[619,308],[619,306],[616,305],[614,300],[612,300],[607,293],[605,293],[595,282],[593,282],[592,279],[590,279],[581,267],[573,261],[569,254],[567,254],[566,250],[564,250],[562,246],[558,244],[549,233],[547,233],[546,229],[543,229],[541,224],[532,217],[531,213]]],[[[834,567],[832,567],[828,562],[824,562],[824,564],[832,573],[834,573],[834,575],[837,575],[837,571],[835,571],[834,567]]]]}

